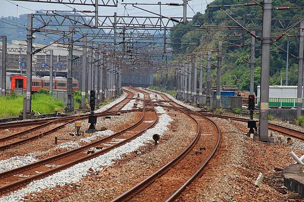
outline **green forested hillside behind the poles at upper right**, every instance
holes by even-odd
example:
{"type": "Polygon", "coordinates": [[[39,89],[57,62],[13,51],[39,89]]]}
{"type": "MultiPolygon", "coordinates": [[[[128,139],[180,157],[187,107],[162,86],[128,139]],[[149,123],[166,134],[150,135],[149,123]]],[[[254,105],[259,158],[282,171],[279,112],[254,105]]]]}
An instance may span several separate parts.
{"type": "MultiPolygon", "coordinates": [[[[275,7],[293,7],[293,6],[304,6],[304,1],[284,1],[284,0],[274,0],[273,8],[275,7]]],[[[252,1],[237,1],[237,0],[215,0],[210,5],[235,5],[235,4],[245,4],[252,3],[252,1]]],[[[222,7],[222,9],[231,15],[233,18],[262,18],[262,7],[260,6],[242,6],[242,7],[222,7]]],[[[192,21],[188,21],[187,24],[178,24],[176,27],[187,27],[189,25],[202,25],[202,24],[211,24],[211,20],[200,19],[200,18],[229,18],[218,8],[206,9],[204,14],[197,13],[194,16],[192,21]]],[[[302,19],[304,18],[303,9],[290,9],[277,11],[273,10],[273,19],[302,19]]],[[[242,23],[242,20],[239,21],[242,23]]],[[[255,22],[255,21],[253,21],[255,22]]],[[[287,21],[282,21],[287,23],[287,21]]],[[[232,20],[213,20],[213,25],[232,25],[232,20]]],[[[258,24],[248,23],[246,28],[249,30],[253,29],[254,26],[259,26],[258,24]]],[[[298,26],[297,26],[298,27],[298,26]]],[[[256,34],[261,36],[261,27],[260,29],[255,30],[256,34]]],[[[272,36],[277,36],[280,33],[283,33],[284,30],[273,31],[272,36]]],[[[289,52],[295,56],[298,56],[298,29],[292,29],[288,32],[287,35],[295,35],[296,37],[283,37],[281,40],[276,42],[280,47],[287,49],[287,40],[289,40],[289,52]]],[[[177,43],[195,43],[193,46],[177,45],[173,44],[174,49],[178,49],[175,55],[177,60],[179,56],[186,55],[189,53],[202,52],[204,48],[216,48],[218,40],[215,38],[220,38],[225,41],[229,41],[236,44],[242,44],[242,37],[226,37],[226,36],[216,36],[216,35],[227,35],[231,34],[225,31],[214,31],[212,32],[208,28],[201,27],[196,30],[174,30],[170,32],[170,37],[172,42],[177,43]],[[216,36],[216,37],[215,37],[216,36]],[[181,37],[181,38],[178,38],[181,37]]],[[[242,35],[242,32],[238,32],[242,35]]],[[[275,38],[272,38],[274,42],[275,38]]],[[[250,66],[247,63],[244,63],[243,59],[250,61],[250,48],[251,48],[251,36],[245,34],[245,46],[236,47],[229,45],[223,42],[223,47],[226,49],[223,50],[223,61],[222,61],[222,85],[237,85],[241,90],[249,90],[249,73],[250,66]],[[247,45],[246,45],[247,44],[247,45]],[[228,51],[228,49],[234,52],[236,55],[241,58],[236,57],[228,51]]],[[[255,63],[255,88],[259,84],[260,80],[260,55],[261,55],[261,41],[256,40],[256,63],[255,63]]],[[[216,53],[212,55],[213,62],[216,64],[216,53]]],[[[297,84],[297,63],[298,60],[292,57],[289,57],[289,73],[288,73],[288,85],[297,84]]],[[[279,85],[281,79],[283,80],[283,85],[285,85],[285,68],[286,68],[286,53],[281,51],[277,46],[272,44],[271,46],[271,85],[279,85]]],[[[205,72],[204,72],[205,74],[205,72]]],[[[204,75],[205,76],[205,75],[204,75]]],[[[204,77],[205,78],[205,77],[204,77]]],[[[213,67],[212,70],[212,86],[215,86],[216,81],[216,69],[213,67]]],[[[204,83],[204,86],[206,84],[204,83]]]]}

